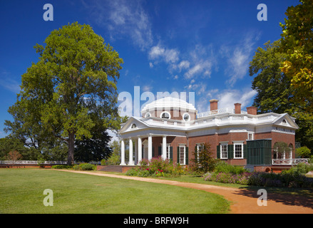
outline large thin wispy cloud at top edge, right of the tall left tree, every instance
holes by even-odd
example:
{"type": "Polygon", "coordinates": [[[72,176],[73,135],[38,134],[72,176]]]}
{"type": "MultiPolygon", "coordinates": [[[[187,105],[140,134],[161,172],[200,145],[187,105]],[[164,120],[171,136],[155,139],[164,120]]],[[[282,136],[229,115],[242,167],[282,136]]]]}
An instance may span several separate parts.
{"type": "Polygon", "coordinates": [[[151,24],[141,1],[82,0],[82,2],[90,11],[91,20],[99,26],[108,28],[112,39],[125,35],[142,51],[152,45],[151,24]]]}

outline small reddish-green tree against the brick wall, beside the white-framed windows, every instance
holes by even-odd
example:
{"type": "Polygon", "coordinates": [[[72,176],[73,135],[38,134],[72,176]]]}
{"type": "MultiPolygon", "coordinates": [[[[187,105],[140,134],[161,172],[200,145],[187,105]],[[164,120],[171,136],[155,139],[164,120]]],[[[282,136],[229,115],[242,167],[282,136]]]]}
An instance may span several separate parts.
{"type": "Polygon", "coordinates": [[[205,173],[215,169],[217,160],[212,157],[211,146],[208,143],[201,145],[201,150],[193,152],[192,168],[195,172],[205,173]]]}

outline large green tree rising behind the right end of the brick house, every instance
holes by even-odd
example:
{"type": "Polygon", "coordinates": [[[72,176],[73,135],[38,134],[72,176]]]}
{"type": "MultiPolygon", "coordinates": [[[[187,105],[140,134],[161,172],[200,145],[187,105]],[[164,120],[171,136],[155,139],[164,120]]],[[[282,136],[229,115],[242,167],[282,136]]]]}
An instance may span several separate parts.
{"type": "Polygon", "coordinates": [[[296,118],[299,130],[296,141],[313,148],[313,116],[302,103],[294,99],[294,89],[289,78],[280,70],[289,56],[282,52],[281,41],[265,43],[257,48],[250,62],[250,76],[255,76],[252,88],[257,91],[253,105],[259,113],[289,113],[296,118]]]}

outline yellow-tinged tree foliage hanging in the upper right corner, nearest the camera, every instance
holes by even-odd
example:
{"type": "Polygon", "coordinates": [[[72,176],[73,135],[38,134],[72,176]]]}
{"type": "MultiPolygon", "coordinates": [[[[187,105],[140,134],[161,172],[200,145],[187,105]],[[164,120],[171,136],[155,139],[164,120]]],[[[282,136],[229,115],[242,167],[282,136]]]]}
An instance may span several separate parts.
{"type": "Polygon", "coordinates": [[[294,100],[313,111],[313,1],[300,0],[297,6],[289,6],[287,19],[282,27],[282,52],[288,59],[282,71],[291,81],[294,100]]]}

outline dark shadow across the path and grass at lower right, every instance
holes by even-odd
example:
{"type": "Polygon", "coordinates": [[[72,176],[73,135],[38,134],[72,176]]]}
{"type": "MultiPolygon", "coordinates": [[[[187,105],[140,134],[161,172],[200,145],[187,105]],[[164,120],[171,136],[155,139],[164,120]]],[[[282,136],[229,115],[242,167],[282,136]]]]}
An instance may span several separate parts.
{"type": "Polygon", "coordinates": [[[274,202],[281,202],[290,206],[301,206],[313,208],[313,190],[311,189],[297,189],[287,187],[260,187],[248,186],[240,187],[237,195],[244,195],[247,197],[259,198],[257,190],[264,189],[267,191],[267,199],[274,202]]]}

